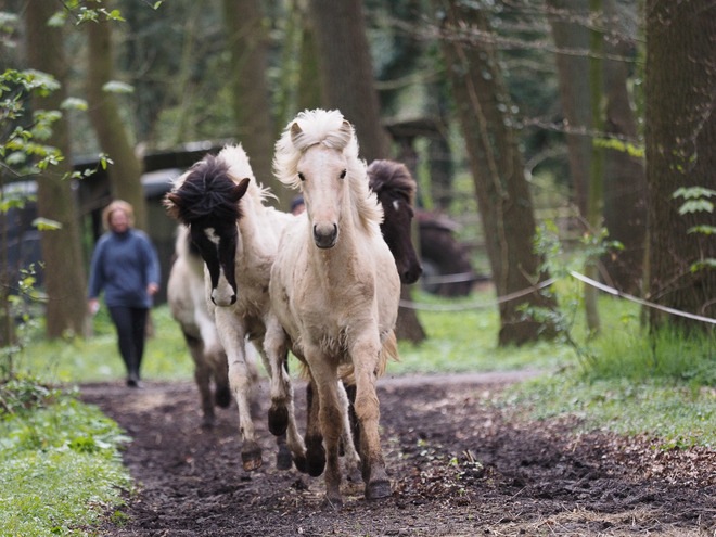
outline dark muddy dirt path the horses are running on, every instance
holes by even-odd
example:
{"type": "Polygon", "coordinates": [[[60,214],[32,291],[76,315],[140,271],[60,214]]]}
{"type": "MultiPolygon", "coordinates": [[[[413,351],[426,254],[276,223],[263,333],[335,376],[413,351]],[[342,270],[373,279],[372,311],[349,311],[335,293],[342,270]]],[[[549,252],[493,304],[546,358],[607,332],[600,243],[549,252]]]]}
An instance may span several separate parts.
{"type": "MultiPolygon", "coordinates": [[[[340,513],[321,509],[322,478],[276,470],[265,418],[255,420],[264,466],[247,474],[235,410],[219,410],[216,430],[202,433],[192,384],[84,386],[82,398],[135,438],[124,455],[139,490],[122,509],[130,521],[106,524],[102,534],[715,535],[713,452],[663,452],[648,438],[575,435],[575,420],[526,422],[491,405],[514,380],[382,382],[382,440],[394,493],[368,502],[348,483],[340,513]]],[[[266,417],[266,386],[260,399],[266,417]]],[[[297,400],[303,424],[303,387],[297,400]]]]}

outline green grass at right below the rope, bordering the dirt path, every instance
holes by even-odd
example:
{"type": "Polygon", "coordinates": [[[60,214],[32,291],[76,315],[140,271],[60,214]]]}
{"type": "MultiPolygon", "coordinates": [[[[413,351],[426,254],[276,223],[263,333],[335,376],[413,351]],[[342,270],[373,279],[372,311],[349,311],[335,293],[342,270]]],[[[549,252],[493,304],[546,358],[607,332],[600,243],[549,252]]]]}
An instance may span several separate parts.
{"type": "Polygon", "coordinates": [[[573,353],[567,367],[513,386],[504,400],[532,419],[574,414],[585,430],[648,434],[664,447],[716,447],[713,334],[668,329],[649,336],[638,306],[599,301],[600,335],[588,341],[581,317],[573,330],[581,357],[573,353]]]}

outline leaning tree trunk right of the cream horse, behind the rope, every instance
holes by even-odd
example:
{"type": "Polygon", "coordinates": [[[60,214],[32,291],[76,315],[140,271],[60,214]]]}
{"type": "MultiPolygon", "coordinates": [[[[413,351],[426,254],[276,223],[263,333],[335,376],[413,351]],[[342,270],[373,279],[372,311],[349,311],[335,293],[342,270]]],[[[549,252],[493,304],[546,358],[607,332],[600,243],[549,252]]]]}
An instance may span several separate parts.
{"type": "MultiPolygon", "coordinates": [[[[510,102],[494,49],[484,42],[461,41],[462,25],[488,30],[485,12],[453,0],[433,0],[445,13],[440,21],[450,39],[440,40],[468,148],[485,244],[498,296],[529,287],[541,259],[533,253],[535,217],[524,177],[522,153],[510,127],[510,102]],[[470,42],[468,48],[464,42],[470,42]]],[[[554,306],[534,292],[500,305],[501,345],[536,340],[546,327],[524,320],[517,306],[554,306]]],[[[553,334],[547,328],[545,335],[553,334]]]]}

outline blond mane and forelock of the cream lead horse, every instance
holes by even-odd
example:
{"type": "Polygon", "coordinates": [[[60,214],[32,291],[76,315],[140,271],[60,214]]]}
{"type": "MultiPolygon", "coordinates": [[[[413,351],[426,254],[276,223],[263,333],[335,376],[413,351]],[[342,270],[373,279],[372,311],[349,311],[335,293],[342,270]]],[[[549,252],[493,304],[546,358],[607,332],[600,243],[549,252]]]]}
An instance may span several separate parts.
{"type": "Polygon", "coordinates": [[[383,208],[368,186],[366,162],[358,157],[358,140],[350,127],[349,135],[342,129],[345,119],[341,112],[311,110],[301,112],[283,131],[276,144],[273,171],[279,180],[291,189],[302,189],[298,178],[298,161],[308,148],[322,143],[327,148],[342,151],[348,159],[350,196],[357,208],[358,222],[369,233],[380,233],[378,226],[383,221],[383,208]],[[291,127],[297,124],[301,133],[292,139],[291,127]]]}

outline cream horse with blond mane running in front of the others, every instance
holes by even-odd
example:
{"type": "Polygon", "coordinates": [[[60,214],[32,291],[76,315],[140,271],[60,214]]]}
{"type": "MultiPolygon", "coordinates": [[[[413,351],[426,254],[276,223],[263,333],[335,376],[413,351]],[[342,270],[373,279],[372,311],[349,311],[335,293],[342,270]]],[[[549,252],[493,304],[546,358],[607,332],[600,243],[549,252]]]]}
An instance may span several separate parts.
{"type": "Polygon", "coordinates": [[[293,353],[305,360],[316,383],[327,498],[342,506],[342,366],[355,373],[366,497],[389,496],[375,381],[387,359],[384,345],[394,341],[400,280],[381,236],[383,212],[368,188],[353,127],[337,111],[298,114],[277,143],[274,169],[284,184],[301,189],[306,202],[307,218],[281,238],[270,295],[293,353]]]}

